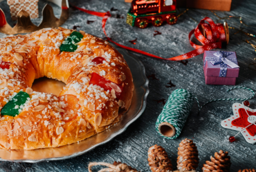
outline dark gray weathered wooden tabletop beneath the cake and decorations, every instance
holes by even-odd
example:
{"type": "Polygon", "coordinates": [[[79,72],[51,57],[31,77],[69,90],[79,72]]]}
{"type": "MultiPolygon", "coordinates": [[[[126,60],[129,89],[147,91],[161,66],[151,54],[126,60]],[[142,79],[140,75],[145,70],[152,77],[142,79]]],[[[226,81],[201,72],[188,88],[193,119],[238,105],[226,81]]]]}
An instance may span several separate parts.
{"type": "MultiPolygon", "coordinates": [[[[130,5],[125,3],[124,0],[73,0],[71,2],[76,6],[100,12],[106,12],[112,8],[112,17],[109,18],[106,25],[107,34],[111,39],[123,45],[136,47],[165,58],[193,50],[188,42],[188,33],[196,27],[196,21],[198,22],[204,17],[210,17],[214,21],[218,20],[209,10],[190,9],[179,18],[176,25],[165,24],[160,28],[149,26],[145,30],[140,30],[139,28],[132,28],[125,23],[126,13],[130,5]],[[154,30],[158,30],[162,34],[153,36],[154,30]],[[129,43],[130,40],[136,38],[138,40],[136,45],[129,43]]],[[[39,11],[42,10],[45,3],[46,1],[39,1],[39,11]]],[[[60,17],[60,8],[52,3],[50,4],[54,8],[56,16],[60,17]]],[[[10,25],[13,25],[15,22],[10,19],[6,1],[2,1],[0,7],[6,12],[10,25]]],[[[239,23],[239,19],[228,20],[229,25],[237,29],[243,29],[245,32],[256,34],[255,9],[255,0],[233,0],[230,12],[215,12],[219,17],[241,16],[244,23],[251,25],[251,27],[246,27],[246,25],[239,23]]],[[[181,8],[179,12],[183,12],[183,10],[185,9],[181,8]]],[[[104,37],[101,28],[102,19],[100,17],[94,17],[72,8],[70,12],[71,15],[68,21],[63,25],[64,28],[71,29],[76,25],[80,27],[78,30],[104,37]],[[87,23],[87,21],[93,22],[87,23]]],[[[34,19],[33,22],[39,24],[41,19],[34,19]]],[[[235,34],[235,32],[237,30],[230,30],[230,44],[226,50],[237,52],[239,66],[241,67],[237,85],[255,89],[256,71],[250,69],[250,67],[253,67],[250,64],[256,63],[254,60],[256,54],[253,47],[245,42],[246,39],[251,40],[251,37],[241,34],[241,32],[235,34]]],[[[0,37],[4,36],[6,35],[0,34],[0,37]]],[[[223,129],[220,125],[221,120],[232,115],[232,103],[234,102],[211,103],[202,109],[199,116],[197,115],[196,104],[194,104],[181,136],[175,140],[163,139],[158,136],[155,129],[156,119],[163,109],[163,105],[159,100],[167,100],[174,89],[188,89],[199,98],[201,104],[213,98],[248,97],[250,96],[248,91],[237,89],[227,93],[226,89],[231,86],[205,85],[203,55],[189,59],[188,63],[178,63],[157,60],[134,52],[130,53],[140,58],[145,65],[147,76],[151,77],[149,77],[150,93],[147,98],[145,112],[128,127],[127,131],[111,142],[77,158],[39,162],[37,164],[0,162],[0,171],[87,171],[89,162],[112,163],[113,161],[125,162],[140,171],[150,171],[147,164],[147,150],[149,147],[154,144],[163,146],[172,160],[172,164],[176,166],[177,148],[179,147],[179,142],[184,138],[190,138],[196,142],[200,158],[198,171],[201,171],[205,160],[210,160],[210,155],[214,155],[214,152],[220,149],[229,151],[232,162],[231,171],[256,168],[255,145],[248,144],[241,135],[239,135],[237,142],[228,142],[228,136],[234,136],[237,131],[223,129]]],[[[256,101],[250,100],[250,106],[256,107],[256,101]]],[[[96,168],[95,171],[97,171],[96,168]]]]}

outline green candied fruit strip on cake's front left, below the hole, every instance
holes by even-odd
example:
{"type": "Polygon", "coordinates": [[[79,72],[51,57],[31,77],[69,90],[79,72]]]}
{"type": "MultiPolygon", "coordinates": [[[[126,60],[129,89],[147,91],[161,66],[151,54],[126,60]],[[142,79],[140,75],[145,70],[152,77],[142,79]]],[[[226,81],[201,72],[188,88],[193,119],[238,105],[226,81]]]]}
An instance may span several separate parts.
{"type": "Polygon", "coordinates": [[[27,100],[30,100],[30,96],[26,92],[19,92],[4,105],[1,109],[1,115],[13,117],[19,115],[27,100]]]}

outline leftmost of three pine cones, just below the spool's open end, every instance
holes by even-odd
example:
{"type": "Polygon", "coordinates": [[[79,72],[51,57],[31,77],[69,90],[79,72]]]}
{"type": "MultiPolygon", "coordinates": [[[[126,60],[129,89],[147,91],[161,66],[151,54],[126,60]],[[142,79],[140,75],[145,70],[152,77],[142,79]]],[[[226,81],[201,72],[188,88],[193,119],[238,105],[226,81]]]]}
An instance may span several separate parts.
{"type": "Polygon", "coordinates": [[[167,172],[172,171],[172,162],[168,158],[168,155],[163,147],[154,145],[149,147],[148,152],[149,166],[152,172],[167,172]]]}

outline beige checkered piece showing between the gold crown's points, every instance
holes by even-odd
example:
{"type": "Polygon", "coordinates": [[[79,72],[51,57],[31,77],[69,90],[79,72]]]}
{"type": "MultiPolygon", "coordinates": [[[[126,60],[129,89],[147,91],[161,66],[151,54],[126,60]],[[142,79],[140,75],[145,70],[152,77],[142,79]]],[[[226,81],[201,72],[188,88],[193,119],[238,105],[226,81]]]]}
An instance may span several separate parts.
{"type": "Polygon", "coordinates": [[[17,19],[17,14],[20,10],[25,10],[30,14],[32,19],[38,17],[38,0],[7,0],[8,5],[10,6],[10,15],[12,20],[17,19]]]}

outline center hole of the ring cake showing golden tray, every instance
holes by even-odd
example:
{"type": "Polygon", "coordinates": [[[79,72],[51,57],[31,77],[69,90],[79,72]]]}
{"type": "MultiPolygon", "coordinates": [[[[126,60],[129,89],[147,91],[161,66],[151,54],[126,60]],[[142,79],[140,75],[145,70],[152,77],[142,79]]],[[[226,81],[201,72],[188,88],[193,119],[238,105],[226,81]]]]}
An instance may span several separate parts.
{"type": "Polygon", "coordinates": [[[43,77],[34,80],[32,89],[36,92],[52,93],[59,96],[60,91],[65,85],[60,80],[43,77]]]}

